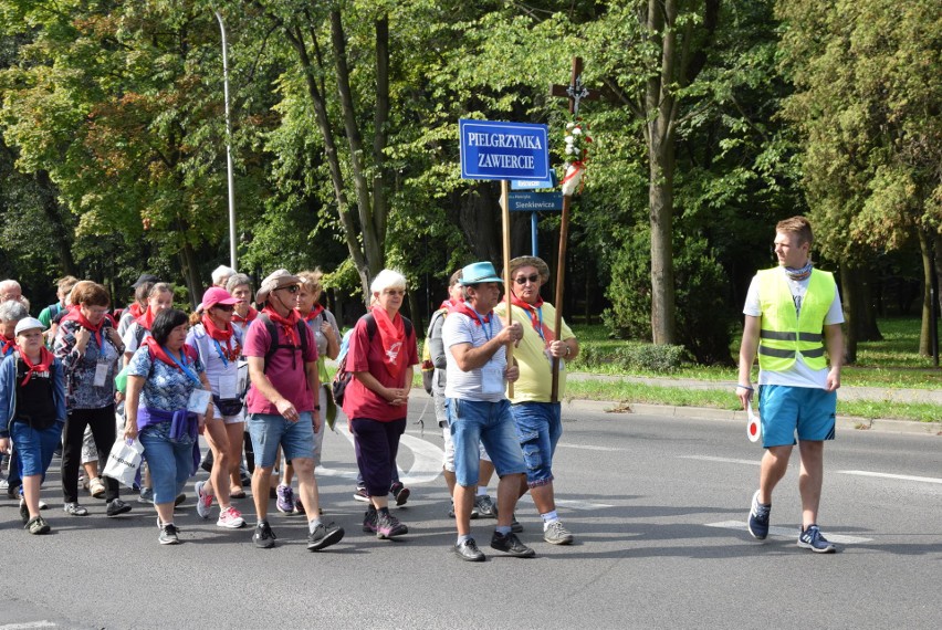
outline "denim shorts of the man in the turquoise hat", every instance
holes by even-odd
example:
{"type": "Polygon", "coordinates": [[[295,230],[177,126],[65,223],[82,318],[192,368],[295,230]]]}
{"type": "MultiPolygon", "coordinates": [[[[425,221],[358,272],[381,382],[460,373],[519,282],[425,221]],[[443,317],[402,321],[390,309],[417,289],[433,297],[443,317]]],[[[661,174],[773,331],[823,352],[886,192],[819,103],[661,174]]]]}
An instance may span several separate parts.
{"type": "Polygon", "coordinates": [[[478,485],[480,447],[484,445],[498,476],[526,472],[510,402],[448,399],[451,440],[454,442],[454,479],[464,486],[478,485]]]}

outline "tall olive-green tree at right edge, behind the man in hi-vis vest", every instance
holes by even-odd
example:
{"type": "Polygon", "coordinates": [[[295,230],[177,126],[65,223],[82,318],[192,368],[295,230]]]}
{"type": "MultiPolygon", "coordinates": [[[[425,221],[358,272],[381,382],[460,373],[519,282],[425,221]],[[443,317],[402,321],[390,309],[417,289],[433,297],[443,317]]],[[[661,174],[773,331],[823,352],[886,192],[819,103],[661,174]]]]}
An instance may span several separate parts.
{"type": "MultiPolygon", "coordinates": [[[[929,272],[942,255],[939,6],[799,0],[777,7],[796,86],[786,114],[803,134],[806,192],[821,249],[852,271],[867,262],[861,252],[917,240],[927,287],[920,349],[928,354],[929,272]]],[[[864,311],[855,303],[858,283],[845,277],[852,358],[860,333],[855,321],[864,311]]]]}

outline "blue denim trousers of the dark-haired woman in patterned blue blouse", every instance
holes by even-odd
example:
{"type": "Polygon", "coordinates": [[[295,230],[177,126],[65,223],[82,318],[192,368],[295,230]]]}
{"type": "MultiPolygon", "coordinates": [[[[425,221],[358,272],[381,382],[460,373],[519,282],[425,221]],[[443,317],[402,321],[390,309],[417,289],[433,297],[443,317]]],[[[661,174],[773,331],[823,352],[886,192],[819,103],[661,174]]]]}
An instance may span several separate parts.
{"type": "Polygon", "coordinates": [[[150,470],[154,503],[172,503],[192,474],[192,440],[189,435],[171,439],[169,422],[145,427],[138,439],[144,447],[144,460],[150,470]]]}

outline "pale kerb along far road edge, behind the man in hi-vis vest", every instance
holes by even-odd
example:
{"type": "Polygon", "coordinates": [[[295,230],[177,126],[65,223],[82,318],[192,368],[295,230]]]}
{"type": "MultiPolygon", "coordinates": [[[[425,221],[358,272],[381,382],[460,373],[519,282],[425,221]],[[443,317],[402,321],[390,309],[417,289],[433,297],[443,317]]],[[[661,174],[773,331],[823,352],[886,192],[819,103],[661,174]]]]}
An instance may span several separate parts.
{"type": "MultiPolygon", "coordinates": [[[[725,422],[742,422],[745,426],[745,411],[730,409],[712,409],[709,407],[674,407],[671,405],[645,405],[636,402],[617,402],[606,400],[573,399],[564,403],[566,409],[586,409],[605,411],[613,414],[639,413],[645,416],[661,416],[666,418],[683,418],[695,420],[721,420],[725,422]]],[[[913,422],[909,420],[891,420],[878,418],[855,418],[851,416],[837,417],[838,429],[875,431],[878,433],[915,433],[942,437],[942,422],[913,422]]]]}

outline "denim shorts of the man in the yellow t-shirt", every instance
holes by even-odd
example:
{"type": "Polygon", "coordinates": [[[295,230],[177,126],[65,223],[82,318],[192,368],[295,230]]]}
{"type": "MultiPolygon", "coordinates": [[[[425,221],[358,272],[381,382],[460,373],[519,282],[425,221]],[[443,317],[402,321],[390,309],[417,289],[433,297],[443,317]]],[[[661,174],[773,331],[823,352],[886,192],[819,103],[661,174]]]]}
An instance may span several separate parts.
{"type": "Polygon", "coordinates": [[[530,487],[553,482],[553,454],[563,434],[562,406],[558,402],[512,405],[516,437],[526,462],[530,487]]]}

